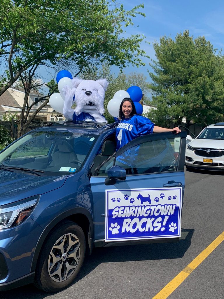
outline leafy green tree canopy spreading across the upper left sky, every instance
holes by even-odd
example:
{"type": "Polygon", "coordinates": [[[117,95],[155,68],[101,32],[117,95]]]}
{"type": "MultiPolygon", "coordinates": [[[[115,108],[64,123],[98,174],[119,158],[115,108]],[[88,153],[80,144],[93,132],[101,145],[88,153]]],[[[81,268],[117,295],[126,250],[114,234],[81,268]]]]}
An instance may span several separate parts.
{"type": "Polygon", "coordinates": [[[125,11],[115,0],[1,0],[0,95],[33,66],[70,60],[77,74],[105,61],[120,68],[143,65],[144,37],[124,37],[135,15],[144,16],[140,8],[125,11]]]}

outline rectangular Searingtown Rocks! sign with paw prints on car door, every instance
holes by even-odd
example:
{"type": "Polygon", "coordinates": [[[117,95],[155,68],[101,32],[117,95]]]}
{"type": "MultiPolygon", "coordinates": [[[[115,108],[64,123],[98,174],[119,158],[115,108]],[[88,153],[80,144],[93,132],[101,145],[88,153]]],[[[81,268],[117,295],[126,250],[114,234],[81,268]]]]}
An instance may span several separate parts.
{"type": "Polygon", "coordinates": [[[166,239],[180,237],[182,187],[139,189],[136,188],[122,190],[110,189],[105,190],[105,199],[105,242],[131,241],[141,239],[166,239]],[[136,217],[136,215],[133,216],[135,218],[130,217],[131,211],[135,211],[133,213],[136,214],[139,213],[138,211],[140,210],[151,211],[151,215],[149,216],[152,217],[148,217],[148,219],[146,216],[142,220],[138,220],[138,217],[136,217]],[[156,213],[159,210],[163,211],[161,212],[161,215],[156,213]],[[168,211],[168,216],[164,216],[166,215],[164,212],[165,210],[168,211]],[[127,215],[127,211],[129,211],[129,216],[124,216],[124,211],[126,211],[125,215],[127,215]],[[114,217],[116,219],[113,219],[114,217]],[[124,221],[123,226],[121,222],[122,218],[126,219],[126,224],[127,221],[130,222],[132,220],[138,220],[142,223],[143,221],[146,222],[147,220],[147,225],[149,222],[148,233],[140,231],[140,229],[142,229],[142,226],[136,228],[136,231],[139,230],[137,233],[132,233],[131,230],[128,231],[128,229],[126,229],[125,233],[124,221]],[[149,227],[152,227],[151,219],[154,219],[153,221],[155,221],[154,223],[156,223],[156,227],[154,228],[155,231],[149,231],[149,227]]]}

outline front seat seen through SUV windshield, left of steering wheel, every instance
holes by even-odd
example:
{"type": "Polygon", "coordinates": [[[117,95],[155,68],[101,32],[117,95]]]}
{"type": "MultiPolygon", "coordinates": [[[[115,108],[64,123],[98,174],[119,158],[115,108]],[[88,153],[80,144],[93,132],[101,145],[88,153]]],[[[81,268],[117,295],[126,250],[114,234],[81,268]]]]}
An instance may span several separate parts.
{"type": "Polygon", "coordinates": [[[67,166],[75,160],[77,160],[77,156],[73,151],[73,147],[65,141],[62,144],[58,144],[58,151],[53,153],[50,166],[67,166]]]}

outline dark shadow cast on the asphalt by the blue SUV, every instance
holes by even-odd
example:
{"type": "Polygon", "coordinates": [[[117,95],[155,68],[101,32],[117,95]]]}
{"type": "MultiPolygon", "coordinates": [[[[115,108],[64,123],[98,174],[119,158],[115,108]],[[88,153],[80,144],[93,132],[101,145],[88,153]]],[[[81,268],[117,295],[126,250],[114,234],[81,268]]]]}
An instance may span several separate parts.
{"type": "MultiPolygon", "coordinates": [[[[83,266],[76,277],[77,281],[92,272],[101,263],[180,259],[191,245],[194,229],[181,229],[181,238],[177,243],[156,243],[95,248],[85,257],[83,266]]],[[[32,284],[17,289],[0,292],[1,299],[43,299],[53,294],[36,289],[32,284]],[[16,294],[16,295],[15,295],[16,294]]]]}

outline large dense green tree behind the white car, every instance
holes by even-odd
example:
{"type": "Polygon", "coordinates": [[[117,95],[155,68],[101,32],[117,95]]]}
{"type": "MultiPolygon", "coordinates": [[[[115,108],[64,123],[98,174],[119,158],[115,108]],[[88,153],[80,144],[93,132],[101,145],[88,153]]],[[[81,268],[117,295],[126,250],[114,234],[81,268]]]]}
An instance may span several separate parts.
{"type": "Polygon", "coordinates": [[[153,100],[157,110],[148,117],[157,125],[175,125],[186,118],[207,125],[223,120],[224,80],[223,56],[213,49],[205,37],[193,39],[188,30],[176,39],[163,36],[154,43],[157,61],[149,73],[153,100]]]}

